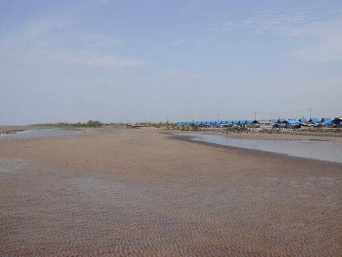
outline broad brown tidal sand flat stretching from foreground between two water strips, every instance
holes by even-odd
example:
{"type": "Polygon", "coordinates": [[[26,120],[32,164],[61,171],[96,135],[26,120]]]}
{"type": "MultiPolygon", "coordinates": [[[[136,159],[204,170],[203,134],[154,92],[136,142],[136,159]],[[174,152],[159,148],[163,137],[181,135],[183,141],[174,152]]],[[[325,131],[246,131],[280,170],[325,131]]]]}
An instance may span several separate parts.
{"type": "Polygon", "coordinates": [[[342,256],[342,164],[144,130],[0,142],[0,256],[342,256]]]}

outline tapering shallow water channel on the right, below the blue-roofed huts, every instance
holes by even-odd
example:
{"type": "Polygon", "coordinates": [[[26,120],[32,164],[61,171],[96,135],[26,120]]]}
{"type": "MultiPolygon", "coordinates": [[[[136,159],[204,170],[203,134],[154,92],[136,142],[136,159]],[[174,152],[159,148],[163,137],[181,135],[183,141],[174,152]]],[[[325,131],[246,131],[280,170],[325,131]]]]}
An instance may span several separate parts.
{"type": "Polygon", "coordinates": [[[261,140],[226,138],[213,134],[174,133],[174,135],[191,136],[198,140],[218,145],[242,147],[262,151],[272,151],[278,154],[287,154],[331,162],[342,162],[342,143],[319,140],[261,140]]]}

